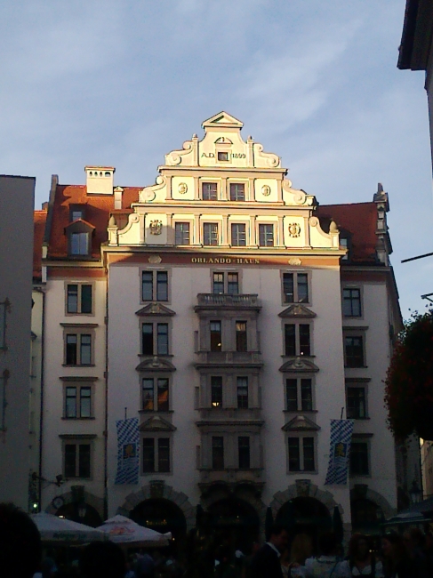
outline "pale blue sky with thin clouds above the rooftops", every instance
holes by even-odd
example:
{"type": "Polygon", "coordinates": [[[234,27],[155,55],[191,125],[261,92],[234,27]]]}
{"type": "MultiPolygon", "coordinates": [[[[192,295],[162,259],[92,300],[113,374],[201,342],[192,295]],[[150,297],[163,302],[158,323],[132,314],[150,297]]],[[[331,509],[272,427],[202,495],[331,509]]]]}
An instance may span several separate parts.
{"type": "Polygon", "coordinates": [[[433,292],[422,72],[397,70],[405,0],[5,0],[0,173],[154,182],[164,154],[222,109],[322,204],[389,192],[405,317],[433,292]]]}

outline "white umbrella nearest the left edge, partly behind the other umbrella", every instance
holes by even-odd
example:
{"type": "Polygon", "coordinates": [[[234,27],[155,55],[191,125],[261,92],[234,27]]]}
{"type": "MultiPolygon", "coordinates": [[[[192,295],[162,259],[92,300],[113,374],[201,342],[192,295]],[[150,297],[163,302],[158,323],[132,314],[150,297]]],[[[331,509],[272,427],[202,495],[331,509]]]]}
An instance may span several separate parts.
{"type": "Polygon", "coordinates": [[[106,534],[91,526],[78,524],[66,518],[59,518],[39,512],[31,516],[43,542],[95,542],[107,540],[106,534]]]}

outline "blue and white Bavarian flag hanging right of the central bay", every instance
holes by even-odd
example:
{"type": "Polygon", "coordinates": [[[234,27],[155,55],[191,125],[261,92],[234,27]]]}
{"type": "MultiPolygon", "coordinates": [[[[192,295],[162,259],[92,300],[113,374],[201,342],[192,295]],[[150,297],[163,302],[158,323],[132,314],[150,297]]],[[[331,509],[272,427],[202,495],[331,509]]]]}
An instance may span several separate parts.
{"type": "Polygon", "coordinates": [[[331,420],[331,447],[325,486],[346,486],[348,483],[353,424],[353,420],[331,420]]]}

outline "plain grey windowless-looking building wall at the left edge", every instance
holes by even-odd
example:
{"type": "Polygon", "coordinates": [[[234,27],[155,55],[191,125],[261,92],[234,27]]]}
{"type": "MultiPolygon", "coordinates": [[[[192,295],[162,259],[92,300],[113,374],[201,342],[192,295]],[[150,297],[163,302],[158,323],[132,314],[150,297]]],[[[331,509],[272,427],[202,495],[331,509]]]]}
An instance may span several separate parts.
{"type": "Polygon", "coordinates": [[[0,502],[28,510],[35,179],[0,175],[0,502]]]}

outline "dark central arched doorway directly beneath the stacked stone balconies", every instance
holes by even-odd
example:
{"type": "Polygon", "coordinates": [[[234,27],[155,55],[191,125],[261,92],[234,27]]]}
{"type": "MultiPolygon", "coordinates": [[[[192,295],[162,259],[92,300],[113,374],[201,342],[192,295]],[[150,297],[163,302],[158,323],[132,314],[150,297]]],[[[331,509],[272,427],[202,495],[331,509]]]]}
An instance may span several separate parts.
{"type": "Polygon", "coordinates": [[[251,504],[231,496],[213,502],[207,509],[215,543],[224,544],[229,550],[251,551],[259,539],[260,518],[251,504]]]}

